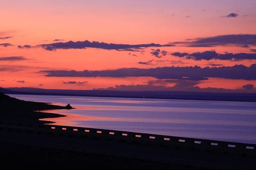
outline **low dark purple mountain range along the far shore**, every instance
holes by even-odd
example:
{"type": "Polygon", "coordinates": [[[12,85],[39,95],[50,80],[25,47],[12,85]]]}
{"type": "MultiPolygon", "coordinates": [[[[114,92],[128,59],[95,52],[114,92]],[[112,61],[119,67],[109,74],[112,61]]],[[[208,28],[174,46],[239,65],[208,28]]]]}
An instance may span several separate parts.
{"type": "Polygon", "coordinates": [[[35,94],[59,96],[97,96],[153,99],[186,99],[256,102],[256,93],[207,93],[184,91],[106,91],[106,90],[59,90],[42,88],[0,88],[4,94],[35,94]]]}

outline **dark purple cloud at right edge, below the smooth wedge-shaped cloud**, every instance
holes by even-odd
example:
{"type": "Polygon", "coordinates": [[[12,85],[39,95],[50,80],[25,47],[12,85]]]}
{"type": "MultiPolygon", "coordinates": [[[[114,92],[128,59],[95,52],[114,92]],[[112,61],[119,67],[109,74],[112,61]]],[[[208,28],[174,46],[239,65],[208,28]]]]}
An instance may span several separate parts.
{"type": "Polygon", "coordinates": [[[225,54],[218,54],[216,53],[216,51],[204,51],[204,52],[196,52],[196,53],[192,53],[192,54],[187,54],[187,53],[172,53],[176,54],[174,56],[177,57],[186,57],[186,59],[194,59],[194,60],[210,60],[210,59],[219,59],[219,60],[234,60],[234,61],[241,61],[241,60],[245,60],[245,59],[256,59],[256,54],[250,54],[250,53],[237,53],[237,54],[233,54],[233,53],[225,53],[225,54]],[[180,54],[184,54],[180,55],[180,54]],[[185,55],[187,54],[187,55],[185,55]]]}

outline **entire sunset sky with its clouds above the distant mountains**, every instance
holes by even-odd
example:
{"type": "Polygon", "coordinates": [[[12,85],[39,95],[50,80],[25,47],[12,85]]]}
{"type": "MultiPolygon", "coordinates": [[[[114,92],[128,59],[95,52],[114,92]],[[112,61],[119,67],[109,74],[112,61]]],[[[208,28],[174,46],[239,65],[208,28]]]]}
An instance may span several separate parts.
{"type": "Polygon", "coordinates": [[[255,0],[0,0],[0,87],[256,92],[255,9],[255,0]]]}

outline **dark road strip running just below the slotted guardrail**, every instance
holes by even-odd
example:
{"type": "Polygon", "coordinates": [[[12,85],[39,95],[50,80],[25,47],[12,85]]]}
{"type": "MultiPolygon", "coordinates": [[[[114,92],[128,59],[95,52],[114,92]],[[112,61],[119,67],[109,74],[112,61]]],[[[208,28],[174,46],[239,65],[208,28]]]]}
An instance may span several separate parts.
{"type": "MultiPolygon", "coordinates": [[[[174,167],[180,165],[191,168],[256,170],[256,162],[253,157],[180,150],[128,142],[97,140],[94,138],[24,133],[16,130],[0,130],[0,136],[1,146],[26,146],[29,148],[60,150],[66,153],[76,152],[129,160],[137,159],[157,164],[168,164],[174,167]]],[[[3,153],[1,155],[2,158],[5,157],[3,153]]],[[[15,155],[15,151],[8,154],[15,155]]]]}

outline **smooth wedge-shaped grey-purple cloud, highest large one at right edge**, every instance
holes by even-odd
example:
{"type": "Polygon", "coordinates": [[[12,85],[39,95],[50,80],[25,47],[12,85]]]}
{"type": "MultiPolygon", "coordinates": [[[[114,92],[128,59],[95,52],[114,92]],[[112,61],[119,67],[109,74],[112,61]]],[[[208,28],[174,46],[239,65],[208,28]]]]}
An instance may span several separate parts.
{"type": "Polygon", "coordinates": [[[256,34],[230,34],[218,35],[215,37],[204,37],[188,39],[182,42],[171,42],[172,44],[182,44],[188,47],[214,47],[219,45],[256,45],[256,34]]]}

